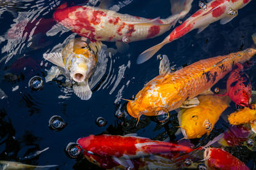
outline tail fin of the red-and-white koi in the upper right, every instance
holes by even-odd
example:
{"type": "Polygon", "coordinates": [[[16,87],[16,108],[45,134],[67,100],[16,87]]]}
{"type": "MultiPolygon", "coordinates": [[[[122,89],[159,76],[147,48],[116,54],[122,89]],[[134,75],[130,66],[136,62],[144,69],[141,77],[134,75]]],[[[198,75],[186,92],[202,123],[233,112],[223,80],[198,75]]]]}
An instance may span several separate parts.
{"type": "Polygon", "coordinates": [[[169,43],[168,40],[164,40],[163,42],[159,43],[158,45],[152,46],[151,48],[148,48],[143,53],[141,53],[137,59],[137,64],[141,64],[145,62],[146,60],[150,59],[160,48],[162,48],[164,45],[169,43]]]}

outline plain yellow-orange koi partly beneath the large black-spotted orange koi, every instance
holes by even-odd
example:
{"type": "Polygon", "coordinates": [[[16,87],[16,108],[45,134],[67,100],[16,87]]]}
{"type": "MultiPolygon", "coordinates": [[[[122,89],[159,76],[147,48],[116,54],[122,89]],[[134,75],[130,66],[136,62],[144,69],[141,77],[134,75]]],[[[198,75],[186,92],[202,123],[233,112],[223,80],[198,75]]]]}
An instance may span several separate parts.
{"type": "Polygon", "coordinates": [[[178,113],[179,125],[185,139],[209,135],[221,113],[229,106],[227,96],[198,96],[200,103],[193,108],[183,108],[178,113]]]}

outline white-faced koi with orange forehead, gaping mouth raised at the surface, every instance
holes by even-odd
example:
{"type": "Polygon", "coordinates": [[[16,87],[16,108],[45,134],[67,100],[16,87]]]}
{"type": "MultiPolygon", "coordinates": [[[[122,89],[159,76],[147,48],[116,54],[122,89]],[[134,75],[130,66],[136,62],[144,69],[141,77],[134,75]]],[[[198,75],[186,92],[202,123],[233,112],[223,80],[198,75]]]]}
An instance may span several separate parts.
{"type": "Polygon", "coordinates": [[[82,100],[90,99],[92,91],[88,79],[95,69],[98,58],[102,57],[99,55],[101,49],[100,41],[92,42],[87,38],[76,38],[71,39],[61,53],[44,53],[45,60],[60,67],[52,66],[45,80],[50,81],[59,74],[65,74],[70,80],[76,81],[77,84],[73,85],[76,96],[82,100]]]}

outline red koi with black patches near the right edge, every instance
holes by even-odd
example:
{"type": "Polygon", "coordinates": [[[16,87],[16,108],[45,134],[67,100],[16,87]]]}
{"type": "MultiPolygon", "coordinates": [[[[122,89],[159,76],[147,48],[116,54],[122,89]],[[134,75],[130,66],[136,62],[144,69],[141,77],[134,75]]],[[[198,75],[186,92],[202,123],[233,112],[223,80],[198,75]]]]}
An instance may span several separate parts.
{"type": "Polygon", "coordinates": [[[236,64],[227,80],[227,95],[234,103],[240,106],[249,106],[250,98],[252,97],[252,85],[248,74],[244,73],[243,66],[240,63],[236,64]]]}

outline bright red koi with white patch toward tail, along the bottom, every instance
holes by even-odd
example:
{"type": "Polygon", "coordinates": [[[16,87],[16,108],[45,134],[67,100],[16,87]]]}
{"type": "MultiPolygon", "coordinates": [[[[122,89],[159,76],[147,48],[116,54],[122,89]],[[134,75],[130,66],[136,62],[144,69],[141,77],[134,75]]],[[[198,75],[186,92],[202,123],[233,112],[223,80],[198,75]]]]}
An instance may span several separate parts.
{"type": "Polygon", "coordinates": [[[83,155],[86,159],[106,169],[124,165],[124,161],[130,159],[164,153],[189,153],[193,151],[188,146],[153,141],[137,136],[90,135],[78,139],[77,143],[83,148],[83,155]]]}

